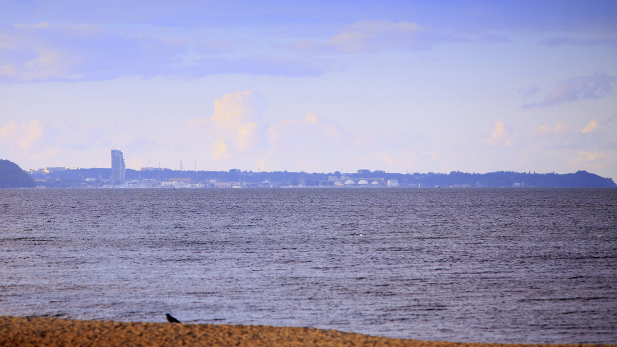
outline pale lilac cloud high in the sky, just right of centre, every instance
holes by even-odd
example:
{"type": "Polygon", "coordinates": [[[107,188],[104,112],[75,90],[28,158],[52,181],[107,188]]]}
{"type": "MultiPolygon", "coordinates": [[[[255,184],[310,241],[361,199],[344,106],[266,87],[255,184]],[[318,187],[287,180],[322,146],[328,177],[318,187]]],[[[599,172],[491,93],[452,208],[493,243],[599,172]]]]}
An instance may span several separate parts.
{"type": "Polygon", "coordinates": [[[325,41],[303,40],[289,44],[302,53],[372,53],[389,49],[426,51],[433,44],[454,41],[418,23],[376,20],[357,22],[325,41]]]}

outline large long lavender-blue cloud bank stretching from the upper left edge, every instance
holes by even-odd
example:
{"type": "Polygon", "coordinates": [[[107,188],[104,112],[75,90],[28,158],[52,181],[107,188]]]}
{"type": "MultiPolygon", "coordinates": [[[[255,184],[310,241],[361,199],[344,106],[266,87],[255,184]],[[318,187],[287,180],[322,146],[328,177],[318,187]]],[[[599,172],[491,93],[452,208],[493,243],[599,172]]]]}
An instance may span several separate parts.
{"type": "Polygon", "coordinates": [[[324,71],[318,63],[290,57],[246,53],[228,57],[225,53],[234,48],[224,40],[204,43],[147,27],[120,30],[43,22],[0,27],[0,81],[101,81],[221,73],[315,76],[324,71]]]}

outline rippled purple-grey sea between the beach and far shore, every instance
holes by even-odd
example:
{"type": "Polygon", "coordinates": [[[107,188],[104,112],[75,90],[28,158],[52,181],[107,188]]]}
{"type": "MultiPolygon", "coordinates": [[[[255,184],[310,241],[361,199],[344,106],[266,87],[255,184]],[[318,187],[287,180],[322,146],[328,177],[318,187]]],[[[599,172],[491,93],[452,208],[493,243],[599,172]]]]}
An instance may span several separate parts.
{"type": "Polygon", "coordinates": [[[617,189],[0,189],[0,314],[617,343],[617,189]]]}

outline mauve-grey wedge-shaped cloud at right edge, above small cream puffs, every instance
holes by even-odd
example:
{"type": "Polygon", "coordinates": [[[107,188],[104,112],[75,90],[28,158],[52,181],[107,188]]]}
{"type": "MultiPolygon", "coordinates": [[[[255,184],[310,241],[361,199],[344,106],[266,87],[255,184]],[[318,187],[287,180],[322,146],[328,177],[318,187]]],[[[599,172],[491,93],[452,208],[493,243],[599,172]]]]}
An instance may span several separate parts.
{"type": "Polygon", "coordinates": [[[617,83],[617,77],[610,76],[607,73],[569,78],[549,92],[544,100],[525,104],[523,108],[549,107],[576,100],[600,99],[613,92],[613,84],[615,83],[617,83]]]}

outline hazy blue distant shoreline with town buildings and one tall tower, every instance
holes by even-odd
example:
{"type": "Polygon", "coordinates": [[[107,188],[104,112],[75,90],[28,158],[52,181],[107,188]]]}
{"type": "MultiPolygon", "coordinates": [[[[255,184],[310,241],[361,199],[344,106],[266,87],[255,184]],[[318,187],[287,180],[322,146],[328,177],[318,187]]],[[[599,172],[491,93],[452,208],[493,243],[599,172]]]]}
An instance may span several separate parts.
{"type": "Polygon", "coordinates": [[[48,167],[26,170],[38,187],[49,188],[251,188],[251,187],[617,187],[611,178],[587,171],[569,174],[516,173],[355,173],[289,171],[193,171],[168,168],[126,169],[123,153],[111,151],[111,168],[48,167]]]}

